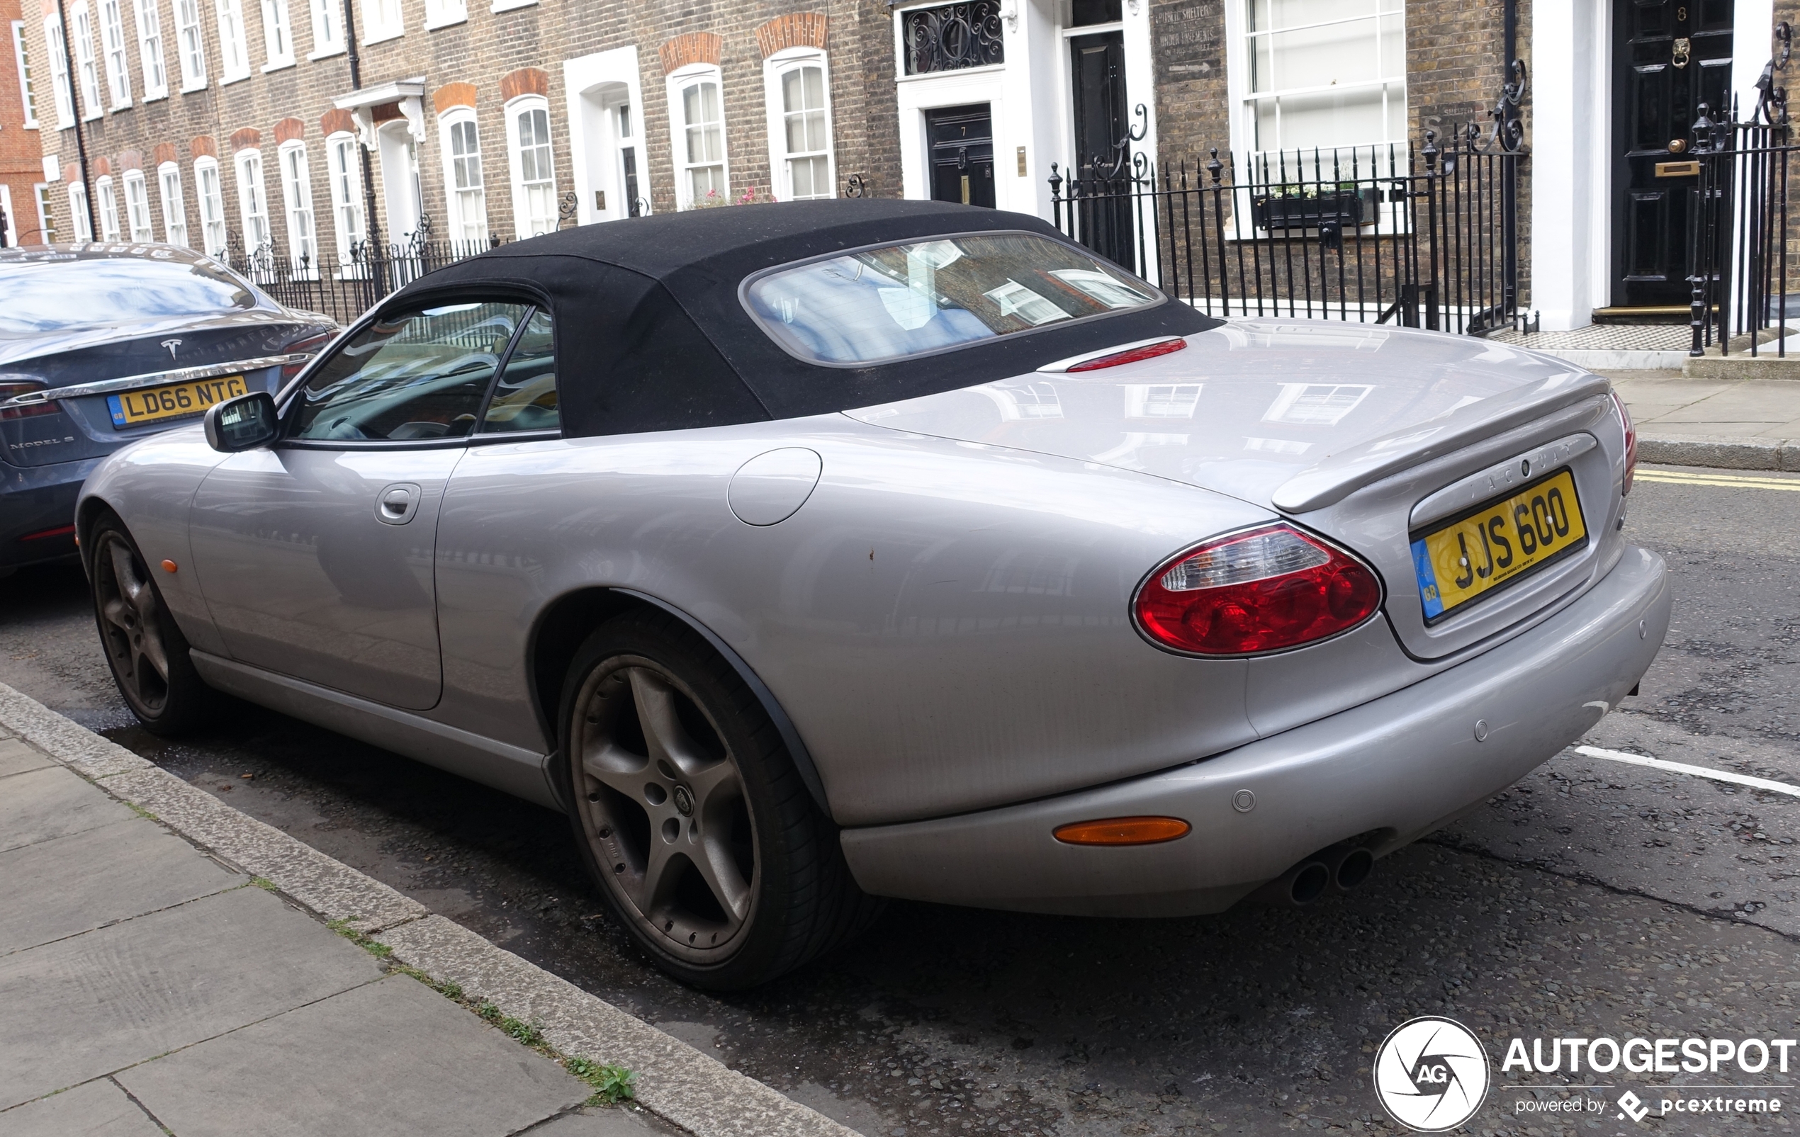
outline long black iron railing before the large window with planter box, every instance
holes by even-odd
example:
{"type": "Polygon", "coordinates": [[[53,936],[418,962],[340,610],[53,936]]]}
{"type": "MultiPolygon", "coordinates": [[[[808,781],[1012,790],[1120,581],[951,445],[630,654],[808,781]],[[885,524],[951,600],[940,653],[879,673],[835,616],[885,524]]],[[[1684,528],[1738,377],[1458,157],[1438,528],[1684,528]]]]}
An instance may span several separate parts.
{"type": "Polygon", "coordinates": [[[1494,126],[1442,142],[1220,157],[1080,176],[1051,167],[1055,223],[1220,317],[1301,317],[1487,335],[1519,318],[1525,67],[1494,126]]]}

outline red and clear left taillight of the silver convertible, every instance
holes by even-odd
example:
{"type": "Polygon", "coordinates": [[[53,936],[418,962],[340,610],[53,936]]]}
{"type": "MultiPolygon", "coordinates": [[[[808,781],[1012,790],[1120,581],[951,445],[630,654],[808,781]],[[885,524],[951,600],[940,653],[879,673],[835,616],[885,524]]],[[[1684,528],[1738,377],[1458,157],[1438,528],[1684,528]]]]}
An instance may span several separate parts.
{"type": "Polygon", "coordinates": [[[1379,606],[1381,581],[1366,565],[1282,524],[1188,549],[1152,572],[1132,603],[1150,639],[1195,655],[1298,648],[1379,606]]]}

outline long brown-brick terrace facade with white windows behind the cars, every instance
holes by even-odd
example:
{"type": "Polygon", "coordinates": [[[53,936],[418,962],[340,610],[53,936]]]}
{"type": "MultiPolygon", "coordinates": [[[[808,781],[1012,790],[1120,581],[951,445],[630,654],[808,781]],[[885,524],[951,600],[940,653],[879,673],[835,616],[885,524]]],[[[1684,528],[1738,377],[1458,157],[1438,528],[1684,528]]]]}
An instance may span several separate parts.
{"type": "MultiPolygon", "coordinates": [[[[1658,184],[1633,198],[1620,182],[1620,124],[1634,113],[1620,79],[1622,36],[1634,34],[1625,14],[1679,20],[1651,45],[1674,52],[1651,70],[1687,67],[1679,45],[1690,43],[1692,25],[1694,50],[1712,56],[1679,74],[1715,86],[1714,99],[1753,101],[1769,29],[1800,7],[23,4],[22,43],[43,76],[38,133],[54,157],[49,173],[61,175],[49,192],[59,236],[81,236],[77,214],[92,210],[101,237],[266,243],[326,266],[371,228],[383,241],[428,232],[479,246],[556,225],[770,196],[940,196],[1051,216],[1051,169],[1089,171],[1102,151],[1141,157],[1156,171],[1197,169],[1215,148],[1228,162],[1309,148],[1390,148],[1404,162],[1427,130],[1444,142],[1469,122],[1487,126],[1505,81],[1510,11],[1516,56],[1532,70],[1521,281],[1546,327],[1579,327],[1595,309],[1629,304],[1629,281],[1620,281],[1631,275],[1622,268],[1631,201],[1679,189],[1658,184]],[[355,23],[358,83],[346,20],[355,23]],[[65,70],[70,81],[58,86],[65,70]]],[[[1669,110],[1669,131],[1683,133],[1676,119],[1688,113],[1687,104],[1669,110]]],[[[1678,275],[1679,266],[1669,268],[1670,288],[1678,275]]]]}

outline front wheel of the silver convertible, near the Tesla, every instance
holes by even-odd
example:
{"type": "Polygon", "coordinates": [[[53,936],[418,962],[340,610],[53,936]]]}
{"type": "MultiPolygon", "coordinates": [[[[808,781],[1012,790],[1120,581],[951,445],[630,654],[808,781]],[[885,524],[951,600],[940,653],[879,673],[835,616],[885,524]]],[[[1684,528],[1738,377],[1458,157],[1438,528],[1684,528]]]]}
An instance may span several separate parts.
{"type": "Polygon", "coordinates": [[[126,707],[151,734],[175,738],[198,727],[212,691],[194,671],[157,579],[131,533],[108,511],[86,536],[94,622],[126,707]]]}

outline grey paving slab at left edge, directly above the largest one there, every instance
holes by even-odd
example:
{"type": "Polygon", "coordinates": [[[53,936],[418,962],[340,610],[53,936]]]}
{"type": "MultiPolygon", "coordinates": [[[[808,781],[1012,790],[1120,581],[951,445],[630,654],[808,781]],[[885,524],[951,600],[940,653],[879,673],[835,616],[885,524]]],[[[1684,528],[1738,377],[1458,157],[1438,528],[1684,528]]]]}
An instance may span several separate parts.
{"type": "Polygon", "coordinates": [[[247,883],[142,817],[0,853],[0,955],[247,883]]]}

